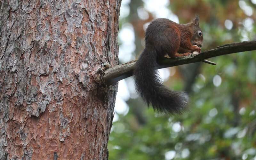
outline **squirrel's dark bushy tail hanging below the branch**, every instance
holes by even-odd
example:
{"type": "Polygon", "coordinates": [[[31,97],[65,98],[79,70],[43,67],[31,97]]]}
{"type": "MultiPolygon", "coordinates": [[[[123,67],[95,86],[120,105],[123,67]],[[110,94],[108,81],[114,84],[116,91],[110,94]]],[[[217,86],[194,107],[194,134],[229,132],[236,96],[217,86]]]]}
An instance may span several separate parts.
{"type": "Polygon", "coordinates": [[[171,91],[166,88],[155,70],[156,51],[144,49],[135,64],[134,79],[137,92],[154,110],[175,114],[182,113],[188,104],[188,95],[184,92],[171,91]]]}

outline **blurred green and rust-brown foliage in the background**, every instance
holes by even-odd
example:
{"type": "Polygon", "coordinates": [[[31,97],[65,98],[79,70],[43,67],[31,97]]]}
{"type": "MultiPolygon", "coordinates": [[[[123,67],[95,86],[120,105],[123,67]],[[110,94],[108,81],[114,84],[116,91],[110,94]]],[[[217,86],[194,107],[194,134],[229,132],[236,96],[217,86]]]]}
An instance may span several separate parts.
{"type": "MultiPolygon", "coordinates": [[[[203,50],[207,50],[226,43],[255,39],[256,22],[253,22],[252,29],[246,28],[243,23],[247,18],[255,20],[256,5],[251,1],[243,2],[253,10],[251,16],[244,14],[238,4],[240,1],[232,0],[192,0],[188,3],[171,0],[169,8],[181,22],[199,12],[200,27],[204,33],[203,50]],[[198,5],[200,8],[195,10],[198,5]],[[228,12],[230,8],[232,13],[228,12]],[[225,28],[227,19],[233,22],[231,30],[225,28]]],[[[121,22],[130,21],[133,24],[134,19],[129,17],[121,22]]],[[[135,24],[133,27],[135,31],[139,30],[135,24]]],[[[218,65],[202,63],[191,85],[190,111],[183,115],[155,113],[145,104],[135,103],[140,98],[127,101],[129,113],[118,115],[119,119],[112,126],[108,143],[109,159],[168,159],[166,153],[172,153],[169,159],[255,160],[256,51],[219,56],[211,61],[218,65]],[[141,115],[135,114],[136,108],[142,108],[140,114],[145,119],[144,123],[139,122],[141,115]]],[[[181,90],[187,80],[176,70],[165,85],[181,90]]]]}

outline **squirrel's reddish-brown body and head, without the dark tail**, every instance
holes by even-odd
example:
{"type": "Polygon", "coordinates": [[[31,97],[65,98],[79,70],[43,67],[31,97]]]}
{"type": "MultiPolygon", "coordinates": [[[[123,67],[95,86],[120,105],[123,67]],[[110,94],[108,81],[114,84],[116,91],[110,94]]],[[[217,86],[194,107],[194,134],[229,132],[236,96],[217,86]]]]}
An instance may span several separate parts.
{"type": "Polygon", "coordinates": [[[193,46],[202,45],[203,41],[203,36],[198,36],[198,31],[201,29],[197,25],[199,18],[188,24],[178,24],[164,18],[156,19],[147,28],[146,48],[149,45],[153,46],[157,56],[163,57],[168,54],[172,58],[177,57],[178,51],[179,53],[200,52],[199,47],[193,46]]]}

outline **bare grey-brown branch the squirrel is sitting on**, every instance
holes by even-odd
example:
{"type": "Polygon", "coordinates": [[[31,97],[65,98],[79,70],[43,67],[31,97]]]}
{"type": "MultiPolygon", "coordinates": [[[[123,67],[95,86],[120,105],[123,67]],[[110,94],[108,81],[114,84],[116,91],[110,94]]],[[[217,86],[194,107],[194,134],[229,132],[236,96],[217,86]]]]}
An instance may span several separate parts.
{"type": "MultiPolygon", "coordinates": [[[[195,63],[200,61],[204,61],[207,63],[207,60],[205,61],[205,59],[208,58],[252,50],[256,50],[256,41],[244,41],[224,44],[222,46],[218,46],[215,49],[204,51],[200,54],[189,57],[181,57],[174,59],[164,58],[158,61],[159,66],[157,66],[156,69],[179,66],[182,64],[195,63]]],[[[106,84],[111,85],[124,78],[132,76],[135,62],[136,60],[132,60],[130,62],[107,69],[105,71],[105,75],[103,76],[103,79],[105,80],[106,84]]],[[[208,63],[213,62],[208,61],[208,63]]]]}

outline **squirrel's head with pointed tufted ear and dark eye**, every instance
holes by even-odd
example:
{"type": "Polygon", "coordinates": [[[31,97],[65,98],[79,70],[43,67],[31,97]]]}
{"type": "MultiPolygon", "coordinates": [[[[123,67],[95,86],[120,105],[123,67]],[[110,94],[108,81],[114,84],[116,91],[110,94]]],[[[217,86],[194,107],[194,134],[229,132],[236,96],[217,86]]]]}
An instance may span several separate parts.
{"type": "Polygon", "coordinates": [[[192,28],[192,38],[190,39],[191,44],[197,45],[198,47],[202,47],[203,45],[203,32],[199,27],[199,16],[196,15],[196,18],[189,23],[192,28]]]}

